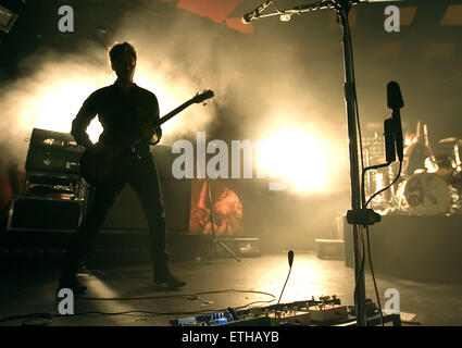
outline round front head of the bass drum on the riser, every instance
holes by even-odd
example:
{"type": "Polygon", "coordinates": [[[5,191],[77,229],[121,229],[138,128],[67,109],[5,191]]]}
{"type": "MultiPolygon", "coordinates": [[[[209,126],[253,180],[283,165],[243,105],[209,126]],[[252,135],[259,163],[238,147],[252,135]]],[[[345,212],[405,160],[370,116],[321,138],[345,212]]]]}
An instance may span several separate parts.
{"type": "Polygon", "coordinates": [[[412,175],[405,183],[404,197],[409,211],[419,215],[444,214],[449,211],[449,185],[436,174],[412,175]]]}

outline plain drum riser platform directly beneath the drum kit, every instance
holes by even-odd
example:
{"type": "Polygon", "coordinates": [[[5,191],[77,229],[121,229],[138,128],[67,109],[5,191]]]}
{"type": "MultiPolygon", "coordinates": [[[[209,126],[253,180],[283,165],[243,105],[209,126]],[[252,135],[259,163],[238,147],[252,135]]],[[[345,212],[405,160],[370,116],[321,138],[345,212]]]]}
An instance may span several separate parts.
{"type": "MultiPolygon", "coordinates": [[[[342,217],[345,264],[354,266],[353,228],[342,217]]],[[[462,215],[385,215],[370,228],[376,272],[432,282],[462,281],[462,215]]],[[[369,269],[366,260],[364,268],[369,269]]]]}

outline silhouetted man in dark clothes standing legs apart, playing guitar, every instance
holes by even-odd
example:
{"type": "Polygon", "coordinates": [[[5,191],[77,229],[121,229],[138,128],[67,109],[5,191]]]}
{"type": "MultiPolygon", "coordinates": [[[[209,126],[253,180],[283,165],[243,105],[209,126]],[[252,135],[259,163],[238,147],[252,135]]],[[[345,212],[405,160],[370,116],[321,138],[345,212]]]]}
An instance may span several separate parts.
{"type": "MultiPolygon", "coordinates": [[[[148,221],[154,283],[178,288],[186,285],[186,282],[174,277],[167,268],[162,191],[149,148],[149,144],[160,141],[161,127],[152,129],[153,140],[137,141],[143,136],[141,130],[143,123],[153,124],[160,119],[158,99],[133,80],[137,54],[132,45],[127,42],[114,45],[109,55],[117,79],[113,85],[98,89],[88,97],[72,123],[71,134],[87,151],[104,149],[109,154],[104,156],[104,161],[115,163],[111,163],[113,170],[103,182],[93,184],[92,203],[68,247],[59,288],[71,288],[77,293],[86,289],[76,277],[79,259],[87,252],[125,184],[129,184],[138,196],[148,221]],[[86,129],[96,115],[103,132],[99,141],[93,145],[86,129]],[[111,154],[114,154],[113,158],[111,154]]],[[[108,163],[93,166],[96,171],[98,167],[108,170],[108,163]]]]}

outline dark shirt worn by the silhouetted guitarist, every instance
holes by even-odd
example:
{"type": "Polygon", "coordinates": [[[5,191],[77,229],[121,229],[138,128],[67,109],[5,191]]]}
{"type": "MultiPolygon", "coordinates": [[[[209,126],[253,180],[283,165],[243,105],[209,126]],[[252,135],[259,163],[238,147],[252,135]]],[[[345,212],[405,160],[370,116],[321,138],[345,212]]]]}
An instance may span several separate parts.
{"type": "MultiPolygon", "coordinates": [[[[141,137],[140,126],[145,122],[159,120],[159,102],[149,90],[134,84],[127,91],[115,83],[92,92],[84,102],[73,121],[72,135],[85,146],[91,145],[86,129],[98,114],[103,127],[99,141],[103,145],[128,145],[141,137]]],[[[158,138],[162,136],[159,127],[158,138]]]]}

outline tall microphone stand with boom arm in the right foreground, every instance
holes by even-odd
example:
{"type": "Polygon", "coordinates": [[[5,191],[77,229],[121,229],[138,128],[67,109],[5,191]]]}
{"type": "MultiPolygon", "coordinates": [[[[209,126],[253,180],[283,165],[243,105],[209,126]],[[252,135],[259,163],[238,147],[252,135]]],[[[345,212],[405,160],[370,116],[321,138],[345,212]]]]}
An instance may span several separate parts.
{"type": "MultiPolygon", "coordinates": [[[[349,138],[349,156],[350,156],[350,184],[351,184],[351,208],[353,211],[360,211],[362,208],[361,190],[360,190],[360,173],[358,159],[358,132],[357,132],[357,90],[354,84],[353,55],[350,35],[350,24],[348,14],[353,4],[365,2],[364,0],[325,0],[317,1],[305,5],[299,5],[291,10],[279,11],[276,5],[275,13],[261,15],[258,13],[251,20],[263,18],[267,16],[280,15],[285,20],[289,20],[292,14],[303,12],[313,12],[323,9],[333,9],[337,12],[339,24],[342,29],[342,48],[344,48],[344,72],[345,72],[345,102],[348,121],[348,138],[349,138]]],[[[365,313],[365,284],[364,270],[361,269],[364,258],[364,239],[363,229],[359,224],[353,226],[353,247],[354,247],[354,279],[357,291],[354,294],[354,307],[357,314],[357,324],[366,326],[365,313]]]]}

